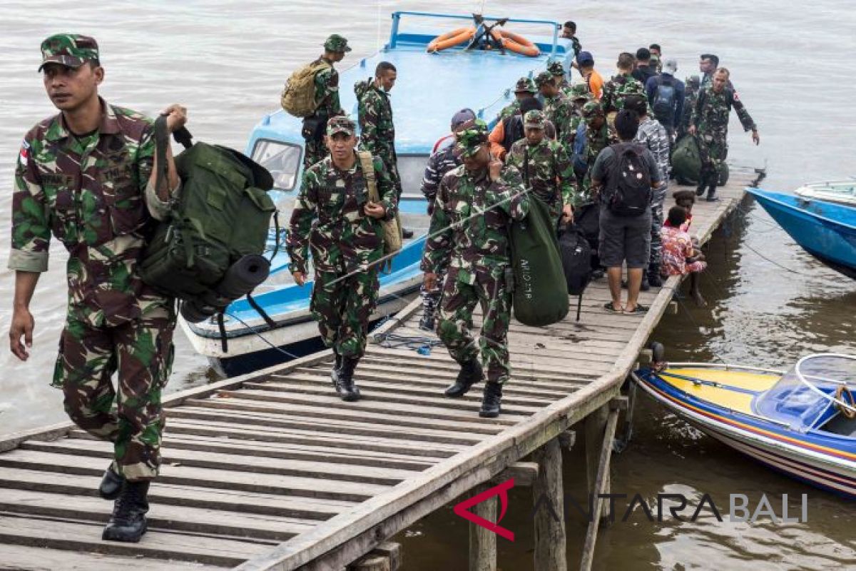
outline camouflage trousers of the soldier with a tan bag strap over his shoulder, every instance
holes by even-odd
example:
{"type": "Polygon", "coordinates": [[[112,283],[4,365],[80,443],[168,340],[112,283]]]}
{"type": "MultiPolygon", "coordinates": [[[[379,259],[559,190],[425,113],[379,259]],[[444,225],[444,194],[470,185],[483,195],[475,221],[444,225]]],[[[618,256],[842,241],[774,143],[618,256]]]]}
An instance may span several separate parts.
{"type": "Polygon", "coordinates": [[[336,282],[338,277],[333,271],[315,272],[310,309],[324,346],[359,359],[366,353],[369,318],[377,307],[377,266],[336,282]]]}

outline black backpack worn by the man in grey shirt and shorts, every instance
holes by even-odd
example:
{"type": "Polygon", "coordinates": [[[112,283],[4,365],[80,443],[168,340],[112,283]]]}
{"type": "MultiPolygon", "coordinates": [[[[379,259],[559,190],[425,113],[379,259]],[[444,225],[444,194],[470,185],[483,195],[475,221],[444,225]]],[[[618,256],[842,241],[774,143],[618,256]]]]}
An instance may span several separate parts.
{"type": "Polygon", "coordinates": [[[651,174],[639,143],[610,145],[615,160],[606,175],[603,204],[616,216],[640,216],[651,205],[651,174]]]}

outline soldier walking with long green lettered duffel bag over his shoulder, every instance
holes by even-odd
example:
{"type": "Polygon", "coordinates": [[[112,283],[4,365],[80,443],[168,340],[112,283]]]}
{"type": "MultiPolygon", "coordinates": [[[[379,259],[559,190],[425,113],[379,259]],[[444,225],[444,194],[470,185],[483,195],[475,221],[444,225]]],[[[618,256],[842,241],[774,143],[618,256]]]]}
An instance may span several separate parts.
{"type": "Polygon", "coordinates": [[[520,172],[503,170],[502,163],[490,157],[483,121],[456,134],[456,139],[463,164],[440,183],[421,268],[425,287],[431,289],[437,272],[448,264],[437,335],[461,364],[461,372],[445,394],[466,394],[481,380],[483,363],[488,382],[479,416],[493,418],[501,412],[502,383],[510,375],[508,223],[526,217],[529,199],[520,172]],[[469,331],[477,303],[483,312],[478,346],[469,331]]]}

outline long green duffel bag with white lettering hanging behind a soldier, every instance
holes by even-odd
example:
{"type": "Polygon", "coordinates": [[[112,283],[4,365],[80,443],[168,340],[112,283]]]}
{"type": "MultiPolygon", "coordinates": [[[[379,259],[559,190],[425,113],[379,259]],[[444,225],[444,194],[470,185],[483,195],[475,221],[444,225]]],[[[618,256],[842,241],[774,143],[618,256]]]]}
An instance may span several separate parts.
{"type": "Polygon", "coordinates": [[[568,315],[568,283],[550,207],[529,195],[529,214],[511,222],[512,304],[521,324],[542,327],[568,315]]]}

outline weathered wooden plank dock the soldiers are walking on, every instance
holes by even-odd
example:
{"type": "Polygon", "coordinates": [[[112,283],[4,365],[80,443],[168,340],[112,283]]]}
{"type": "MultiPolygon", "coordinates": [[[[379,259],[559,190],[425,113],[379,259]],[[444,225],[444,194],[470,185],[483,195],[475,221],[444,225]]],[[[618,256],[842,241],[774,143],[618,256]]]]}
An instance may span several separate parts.
{"type": "MultiPolygon", "coordinates": [[[[755,178],[734,170],[722,201],[695,206],[701,241],[755,178]]],[[[356,403],[331,389],[329,352],[170,396],[162,476],[140,544],[101,541],[112,503],[96,488],[109,444],[70,423],[3,437],[0,568],[342,569],[372,553],[354,568],[392,570],[401,554],[385,540],[497,476],[529,474],[531,485],[561,497],[559,446],[584,419],[589,481],[608,489],[616,397],[678,285],[670,278],[641,294],[645,315],[616,315],[602,308],[603,279],[586,291],[579,322],[572,311],[550,327],[513,323],[514,372],[498,419],[479,418],[481,385],[443,397],[458,367],[442,347],[422,355],[389,343],[370,345],[360,361],[356,403]],[[540,468],[520,463],[529,455],[540,468]]],[[[382,330],[424,337],[418,318],[416,300],[382,330]]],[[[490,514],[490,505],[481,509],[490,514]]],[[[564,527],[535,525],[546,532],[536,533],[544,537],[538,568],[556,571],[564,527]]],[[[473,528],[471,568],[491,568],[495,541],[473,528]]]]}

